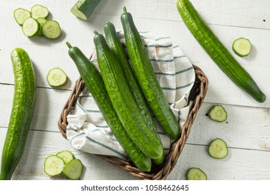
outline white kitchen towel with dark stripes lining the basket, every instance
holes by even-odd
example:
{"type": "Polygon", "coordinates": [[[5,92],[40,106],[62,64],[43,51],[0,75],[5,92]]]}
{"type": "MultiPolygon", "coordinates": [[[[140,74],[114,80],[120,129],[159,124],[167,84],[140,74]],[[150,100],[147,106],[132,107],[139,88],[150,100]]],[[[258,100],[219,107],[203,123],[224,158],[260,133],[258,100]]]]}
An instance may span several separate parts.
{"type": "MultiPolygon", "coordinates": [[[[170,37],[156,37],[149,32],[140,34],[156,78],[181,128],[186,123],[190,110],[188,96],[195,82],[195,70],[181,48],[173,44],[170,37]]],[[[118,37],[125,47],[123,31],[118,32],[118,37]]],[[[96,53],[93,53],[91,61],[98,67],[96,53]]],[[[67,116],[67,121],[69,124],[66,128],[66,136],[74,148],[96,155],[112,155],[127,159],[125,150],[111,133],[86,87],[67,116]]],[[[165,153],[168,153],[174,140],[165,135],[159,123],[156,122],[156,125],[165,153]]]]}

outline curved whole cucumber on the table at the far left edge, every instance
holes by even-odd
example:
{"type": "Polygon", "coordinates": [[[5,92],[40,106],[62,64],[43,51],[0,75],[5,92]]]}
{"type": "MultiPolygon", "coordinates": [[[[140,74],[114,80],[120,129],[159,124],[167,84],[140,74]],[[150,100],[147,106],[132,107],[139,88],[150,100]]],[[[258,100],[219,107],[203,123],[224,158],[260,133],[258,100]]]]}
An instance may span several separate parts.
{"type": "Polygon", "coordinates": [[[10,123],[2,151],[1,180],[11,179],[23,155],[36,98],[35,72],[28,53],[22,48],[15,48],[11,52],[11,60],[15,90],[10,123]]]}

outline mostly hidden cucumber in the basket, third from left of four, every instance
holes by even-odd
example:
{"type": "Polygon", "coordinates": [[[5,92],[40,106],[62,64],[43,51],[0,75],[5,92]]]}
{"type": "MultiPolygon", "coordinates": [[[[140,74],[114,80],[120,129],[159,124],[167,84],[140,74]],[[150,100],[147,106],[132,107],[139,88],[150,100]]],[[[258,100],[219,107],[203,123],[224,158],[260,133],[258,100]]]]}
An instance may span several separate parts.
{"type": "MultiPolygon", "coordinates": [[[[118,57],[118,60],[120,60],[121,67],[125,74],[125,79],[127,80],[127,85],[129,86],[129,89],[132,92],[132,95],[134,97],[134,100],[136,101],[136,104],[138,105],[138,108],[141,110],[143,118],[145,118],[145,122],[150,127],[150,130],[152,131],[154,136],[156,136],[156,138],[159,139],[159,141],[161,141],[161,137],[159,136],[158,130],[150,113],[150,110],[147,107],[145,97],[143,96],[143,91],[141,91],[141,87],[138,85],[138,82],[136,81],[136,77],[134,76],[129,61],[127,60],[127,56],[125,55],[123,45],[120,43],[120,40],[118,39],[118,35],[116,33],[116,28],[114,24],[107,22],[107,24],[105,24],[104,26],[104,32],[105,32],[105,39],[107,44],[109,45],[109,48],[111,48],[111,51],[113,51],[118,57]]],[[[164,158],[165,155],[163,152],[163,156],[161,158],[154,159],[154,163],[162,164],[164,158]]]]}

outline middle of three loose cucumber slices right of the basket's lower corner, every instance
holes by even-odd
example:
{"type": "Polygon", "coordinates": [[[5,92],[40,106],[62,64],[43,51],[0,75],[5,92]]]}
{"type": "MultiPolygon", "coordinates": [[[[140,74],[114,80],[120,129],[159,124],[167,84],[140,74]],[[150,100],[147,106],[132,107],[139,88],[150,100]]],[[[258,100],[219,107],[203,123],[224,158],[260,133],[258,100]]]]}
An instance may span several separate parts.
{"type": "Polygon", "coordinates": [[[210,157],[224,159],[228,155],[228,147],[223,139],[215,139],[211,141],[208,147],[210,157]]]}

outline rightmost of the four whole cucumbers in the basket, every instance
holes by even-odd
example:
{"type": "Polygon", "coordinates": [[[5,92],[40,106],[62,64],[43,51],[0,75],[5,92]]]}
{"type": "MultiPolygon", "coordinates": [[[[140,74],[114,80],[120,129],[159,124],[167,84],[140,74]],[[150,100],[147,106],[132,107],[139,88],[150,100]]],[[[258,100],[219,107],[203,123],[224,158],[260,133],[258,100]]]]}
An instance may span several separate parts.
{"type": "Polygon", "coordinates": [[[121,15],[121,22],[125,34],[127,53],[147,103],[150,105],[156,120],[159,121],[165,133],[171,139],[177,139],[180,134],[179,124],[159,85],[132,15],[127,12],[125,7],[124,13],[121,15]]]}

